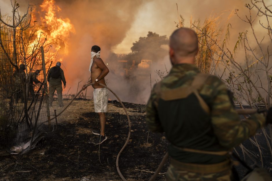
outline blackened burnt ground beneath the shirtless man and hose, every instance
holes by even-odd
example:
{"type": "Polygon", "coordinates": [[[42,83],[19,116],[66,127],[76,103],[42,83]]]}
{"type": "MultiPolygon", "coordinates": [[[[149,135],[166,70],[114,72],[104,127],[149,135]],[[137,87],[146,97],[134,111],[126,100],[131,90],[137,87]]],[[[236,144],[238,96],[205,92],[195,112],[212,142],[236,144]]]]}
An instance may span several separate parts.
{"type": "MultiPolygon", "coordinates": [[[[65,101],[67,104],[68,100],[65,101]]],[[[55,107],[50,111],[57,109],[55,107]]],[[[131,119],[131,137],[119,159],[119,167],[127,180],[148,180],[163,158],[168,141],[163,134],[148,133],[145,123],[145,105],[124,102],[131,119]]],[[[52,113],[51,113],[52,114],[52,113]]],[[[100,145],[92,142],[97,137],[92,129],[99,128],[98,115],[93,102],[75,100],[58,117],[58,128],[45,132],[45,138],[33,150],[16,156],[0,157],[0,180],[121,180],[116,169],[116,157],[128,135],[128,122],[124,110],[117,101],[109,101],[106,113],[106,135],[108,139],[100,145]]],[[[269,130],[266,129],[268,135],[269,130]]],[[[254,141],[254,137],[251,137],[254,141]]],[[[252,152],[253,160],[271,173],[271,156],[264,134],[256,135],[262,154],[252,141],[243,145],[252,152]]],[[[242,159],[243,151],[236,148],[242,159]]],[[[245,152],[245,149],[244,149],[245,152]]],[[[248,165],[254,162],[245,156],[248,165]]],[[[157,180],[166,180],[169,161],[161,170],[157,180]]],[[[248,171],[236,167],[241,176],[248,171]]]]}

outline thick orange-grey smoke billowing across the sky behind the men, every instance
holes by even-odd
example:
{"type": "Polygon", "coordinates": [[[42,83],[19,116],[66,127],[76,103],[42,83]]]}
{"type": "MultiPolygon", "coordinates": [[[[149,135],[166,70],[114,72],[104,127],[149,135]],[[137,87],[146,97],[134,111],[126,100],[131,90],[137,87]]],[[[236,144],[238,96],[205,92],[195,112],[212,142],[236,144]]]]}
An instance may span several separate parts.
{"type": "MultiPolygon", "coordinates": [[[[1,6],[6,6],[4,0],[0,0],[1,6]]],[[[42,0],[32,0],[30,4],[36,5],[39,10],[39,5],[42,0]]],[[[249,25],[240,20],[234,12],[239,9],[238,13],[242,18],[248,14],[245,3],[250,1],[245,0],[230,0],[230,1],[164,1],[164,0],[137,0],[137,1],[87,1],[87,0],[56,0],[56,5],[61,8],[58,16],[69,18],[75,28],[75,33],[71,33],[69,41],[65,42],[69,46],[69,54],[62,57],[65,76],[67,79],[66,91],[71,87],[70,92],[75,93],[78,82],[83,80],[86,82],[90,76],[88,72],[90,63],[91,46],[94,44],[101,47],[101,58],[105,63],[111,63],[111,49],[120,44],[124,39],[131,39],[132,42],[137,41],[139,36],[146,36],[148,31],[159,33],[159,35],[170,36],[172,31],[176,29],[178,14],[181,14],[185,19],[185,26],[190,27],[190,17],[193,20],[200,20],[202,23],[211,14],[220,16],[219,27],[226,29],[227,22],[231,23],[230,37],[228,46],[233,49],[235,42],[238,39],[239,32],[245,32],[249,29],[249,25]],[[178,4],[178,13],[176,3],[178,4]],[[232,15],[228,20],[229,15],[232,15]],[[126,34],[128,31],[146,32],[144,35],[126,34]]],[[[26,5],[26,0],[20,0],[19,4],[26,5]]],[[[256,13],[256,11],[253,13],[256,13]]],[[[37,15],[36,15],[37,16],[37,15]]],[[[254,27],[258,26],[258,20],[254,23],[254,27]]],[[[258,34],[262,36],[262,32],[257,28],[258,34]]],[[[252,33],[249,33],[252,38],[252,33]]],[[[264,40],[265,41],[265,40],[264,40]]],[[[128,44],[126,49],[132,46],[128,44]]],[[[252,45],[256,46],[256,45],[252,45]]],[[[243,61],[244,55],[236,55],[241,57],[243,61]]],[[[160,79],[155,73],[155,70],[170,71],[171,65],[168,55],[165,55],[163,60],[153,61],[151,74],[152,86],[156,83],[155,80],[160,79]]],[[[121,100],[143,103],[146,102],[150,95],[150,77],[143,80],[137,80],[138,83],[135,89],[131,87],[131,81],[120,80],[109,74],[106,76],[109,80],[109,87],[116,90],[117,95],[121,100]],[[139,92],[137,96],[134,94],[139,92]]],[[[80,87],[82,85],[80,84],[80,87]]],[[[64,92],[65,93],[65,92],[64,92]]],[[[88,89],[88,94],[92,95],[92,88],[88,89]]],[[[111,96],[111,98],[113,98],[111,96]]]]}

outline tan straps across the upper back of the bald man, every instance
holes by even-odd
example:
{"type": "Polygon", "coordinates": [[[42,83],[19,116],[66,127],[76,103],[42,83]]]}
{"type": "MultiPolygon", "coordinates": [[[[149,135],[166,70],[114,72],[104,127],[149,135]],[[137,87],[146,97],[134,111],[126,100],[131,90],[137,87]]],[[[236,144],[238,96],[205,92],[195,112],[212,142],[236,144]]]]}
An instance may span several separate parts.
{"type": "Polygon", "coordinates": [[[206,79],[208,78],[208,74],[198,73],[194,77],[194,80],[191,85],[186,87],[178,87],[175,89],[168,89],[161,91],[161,83],[159,82],[159,85],[156,86],[156,93],[159,95],[158,97],[163,100],[177,100],[177,99],[183,99],[188,97],[190,94],[194,93],[196,98],[199,101],[199,104],[201,105],[202,109],[206,113],[210,113],[209,106],[207,103],[203,100],[203,98],[199,95],[198,89],[203,87],[206,79]]]}

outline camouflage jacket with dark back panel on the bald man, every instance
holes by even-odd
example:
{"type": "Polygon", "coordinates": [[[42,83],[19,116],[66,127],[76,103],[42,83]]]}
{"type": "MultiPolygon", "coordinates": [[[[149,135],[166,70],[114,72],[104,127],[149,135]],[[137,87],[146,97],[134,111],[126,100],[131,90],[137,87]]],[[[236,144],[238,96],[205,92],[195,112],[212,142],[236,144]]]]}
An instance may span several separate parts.
{"type": "Polygon", "coordinates": [[[253,114],[245,121],[235,111],[227,94],[227,86],[217,76],[207,76],[197,91],[210,109],[205,112],[194,94],[177,100],[163,100],[155,91],[169,92],[190,86],[200,71],[193,64],[178,64],[156,84],[146,107],[146,124],[153,132],[165,132],[170,141],[169,155],[181,162],[210,164],[226,159],[200,153],[185,152],[177,147],[204,151],[227,151],[254,135],[265,124],[263,114],[253,114]]]}

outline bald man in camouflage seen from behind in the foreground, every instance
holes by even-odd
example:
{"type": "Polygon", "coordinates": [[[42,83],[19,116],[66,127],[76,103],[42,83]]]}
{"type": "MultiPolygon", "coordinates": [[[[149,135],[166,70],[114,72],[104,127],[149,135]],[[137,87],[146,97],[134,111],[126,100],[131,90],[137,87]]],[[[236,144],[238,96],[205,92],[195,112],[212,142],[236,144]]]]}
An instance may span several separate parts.
{"type": "Polygon", "coordinates": [[[172,69],[152,89],[146,124],[170,142],[168,180],[235,180],[228,152],[266,124],[263,114],[246,121],[231,104],[226,85],[195,66],[196,33],[180,28],[170,36],[172,69]]]}

